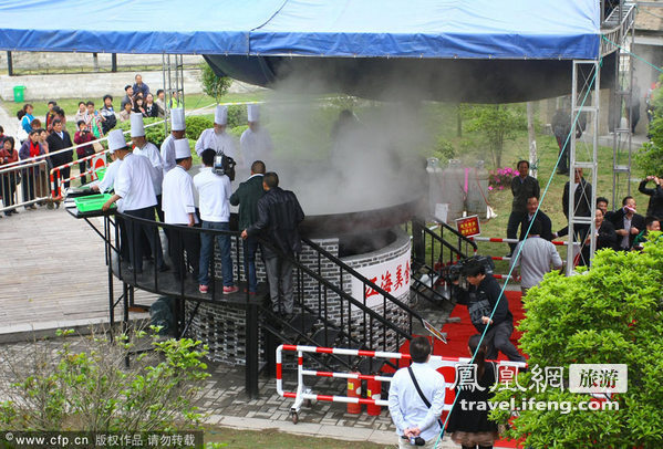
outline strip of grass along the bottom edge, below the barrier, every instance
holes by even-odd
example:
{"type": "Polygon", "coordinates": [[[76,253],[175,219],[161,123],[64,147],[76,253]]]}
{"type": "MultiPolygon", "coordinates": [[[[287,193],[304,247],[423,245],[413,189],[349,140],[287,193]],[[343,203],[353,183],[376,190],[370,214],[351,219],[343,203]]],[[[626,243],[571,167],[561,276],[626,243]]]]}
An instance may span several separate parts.
{"type": "MultiPolygon", "coordinates": [[[[394,441],[396,437],[394,435],[394,441]]],[[[332,438],[318,438],[301,435],[280,432],[276,429],[238,430],[231,428],[216,428],[205,432],[205,443],[217,442],[227,445],[232,449],[310,449],[310,448],[339,448],[339,449],[391,449],[395,445],[376,445],[366,441],[343,441],[332,438]]]]}

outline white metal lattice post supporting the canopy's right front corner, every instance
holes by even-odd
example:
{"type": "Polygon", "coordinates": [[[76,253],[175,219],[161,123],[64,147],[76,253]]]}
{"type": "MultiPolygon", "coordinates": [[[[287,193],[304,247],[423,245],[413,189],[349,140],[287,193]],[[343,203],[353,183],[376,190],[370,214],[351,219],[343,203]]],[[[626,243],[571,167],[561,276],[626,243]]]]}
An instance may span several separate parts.
{"type": "MultiPolygon", "coordinates": [[[[597,175],[598,175],[598,149],[599,149],[599,111],[600,111],[600,74],[599,61],[573,61],[573,76],[571,86],[571,136],[569,148],[569,246],[567,247],[567,274],[571,275],[577,260],[581,258],[580,252],[587,236],[597,232],[594,215],[597,210],[597,175]],[[591,154],[577,152],[576,129],[580,122],[580,114],[587,115],[587,125],[592,129],[591,154]],[[591,177],[590,217],[577,215],[576,169],[582,169],[583,177],[591,177]],[[591,174],[590,174],[591,173],[591,174]],[[589,230],[586,229],[589,226],[589,230]],[[580,243],[580,244],[573,244],[580,243]]],[[[582,201],[582,198],[580,199],[582,201]]],[[[590,239],[589,259],[593,259],[595,251],[595,239],[590,239]]]]}

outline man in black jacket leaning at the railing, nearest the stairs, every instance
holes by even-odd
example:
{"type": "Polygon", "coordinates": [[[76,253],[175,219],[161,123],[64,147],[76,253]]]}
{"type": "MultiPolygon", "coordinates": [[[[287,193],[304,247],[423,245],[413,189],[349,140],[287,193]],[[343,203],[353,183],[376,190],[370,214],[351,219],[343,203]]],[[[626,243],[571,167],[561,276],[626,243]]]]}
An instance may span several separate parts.
{"type": "Polygon", "coordinates": [[[276,313],[291,315],[294,307],[293,264],[289,259],[301,251],[297,227],[304,219],[304,212],[292,191],[279,188],[279,177],[276,173],[265,174],[262,188],[266,194],[258,200],[258,220],[241,232],[241,238],[260,233],[274,247],[262,248],[269,295],[276,313]]]}

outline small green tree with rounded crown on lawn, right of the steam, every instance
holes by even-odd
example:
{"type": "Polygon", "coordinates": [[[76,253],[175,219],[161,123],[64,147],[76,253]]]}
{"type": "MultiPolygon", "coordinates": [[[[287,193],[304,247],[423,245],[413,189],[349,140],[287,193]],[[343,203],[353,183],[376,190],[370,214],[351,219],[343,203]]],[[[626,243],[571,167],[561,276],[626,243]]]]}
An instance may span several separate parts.
{"type": "Polygon", "coordinates": [[[501,167],[504,143],[516,138],[518,130],[527,129],[527,118],[521,109],[499,104],[475,105],[469,108],[467,130],[483,136],[496,168],[501,167]]]}

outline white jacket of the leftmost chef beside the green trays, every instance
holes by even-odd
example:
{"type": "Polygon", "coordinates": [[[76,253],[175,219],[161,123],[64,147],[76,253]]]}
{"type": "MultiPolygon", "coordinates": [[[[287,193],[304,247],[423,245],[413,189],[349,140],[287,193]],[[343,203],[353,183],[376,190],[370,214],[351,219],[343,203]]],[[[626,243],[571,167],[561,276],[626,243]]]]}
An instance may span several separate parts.
{"type": "Polygon", "coordinates": [[[117,210],[121,212],[156,205],[152,165],[147,158],[133,153],[124,156],[115,179],[115,194],[122,198],[122,201],[117,202],[117,210]]]}

